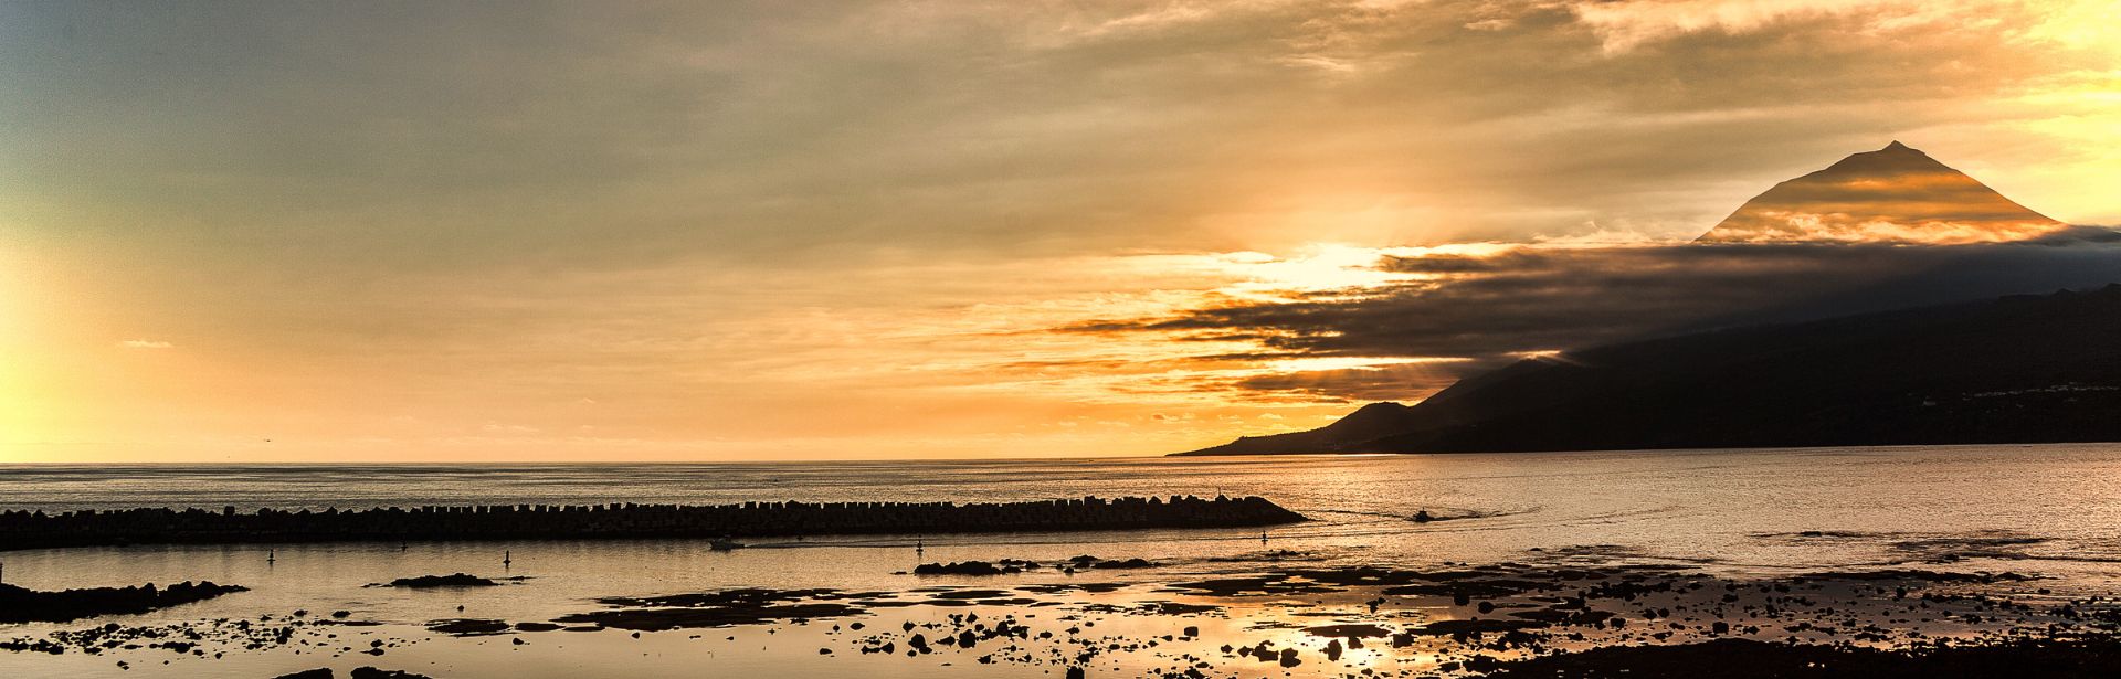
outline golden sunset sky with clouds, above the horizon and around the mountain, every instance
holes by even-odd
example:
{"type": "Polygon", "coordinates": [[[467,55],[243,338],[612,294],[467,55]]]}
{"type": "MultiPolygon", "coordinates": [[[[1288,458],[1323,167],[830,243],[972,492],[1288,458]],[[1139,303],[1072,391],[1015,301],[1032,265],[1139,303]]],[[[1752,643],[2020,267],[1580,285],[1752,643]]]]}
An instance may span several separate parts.
{"type": "Polygon", "coordinates": [[[1796,299],[1763,289],[2121,280],[2108,246],[1688,246],[1890,140],[2121,225],[2117,25],[6,2],[0,463],[1162,454],[1796,299]]]}

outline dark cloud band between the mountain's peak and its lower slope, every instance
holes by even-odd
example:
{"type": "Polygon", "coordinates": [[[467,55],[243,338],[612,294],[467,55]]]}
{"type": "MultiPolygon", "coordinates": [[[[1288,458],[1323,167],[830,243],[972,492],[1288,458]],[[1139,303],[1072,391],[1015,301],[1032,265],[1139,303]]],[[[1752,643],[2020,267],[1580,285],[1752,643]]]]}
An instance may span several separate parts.
{"type": "MultiPolygon", "coordinates": [[[[2106,231],[2091,231],[2106,233],[2106,231]]],[[[1116,318],[1088,333],[1249,340],[1296,356],[1451,356],[1421,369],[1349,369],[1234,382],[1347,399],[1402,399],[1529,352],[2121,282],[2121,244],[1673,244],[1523,246],[1493,257],[1385,257],[1425,274],[1298,301],[1116,318]]]]}

